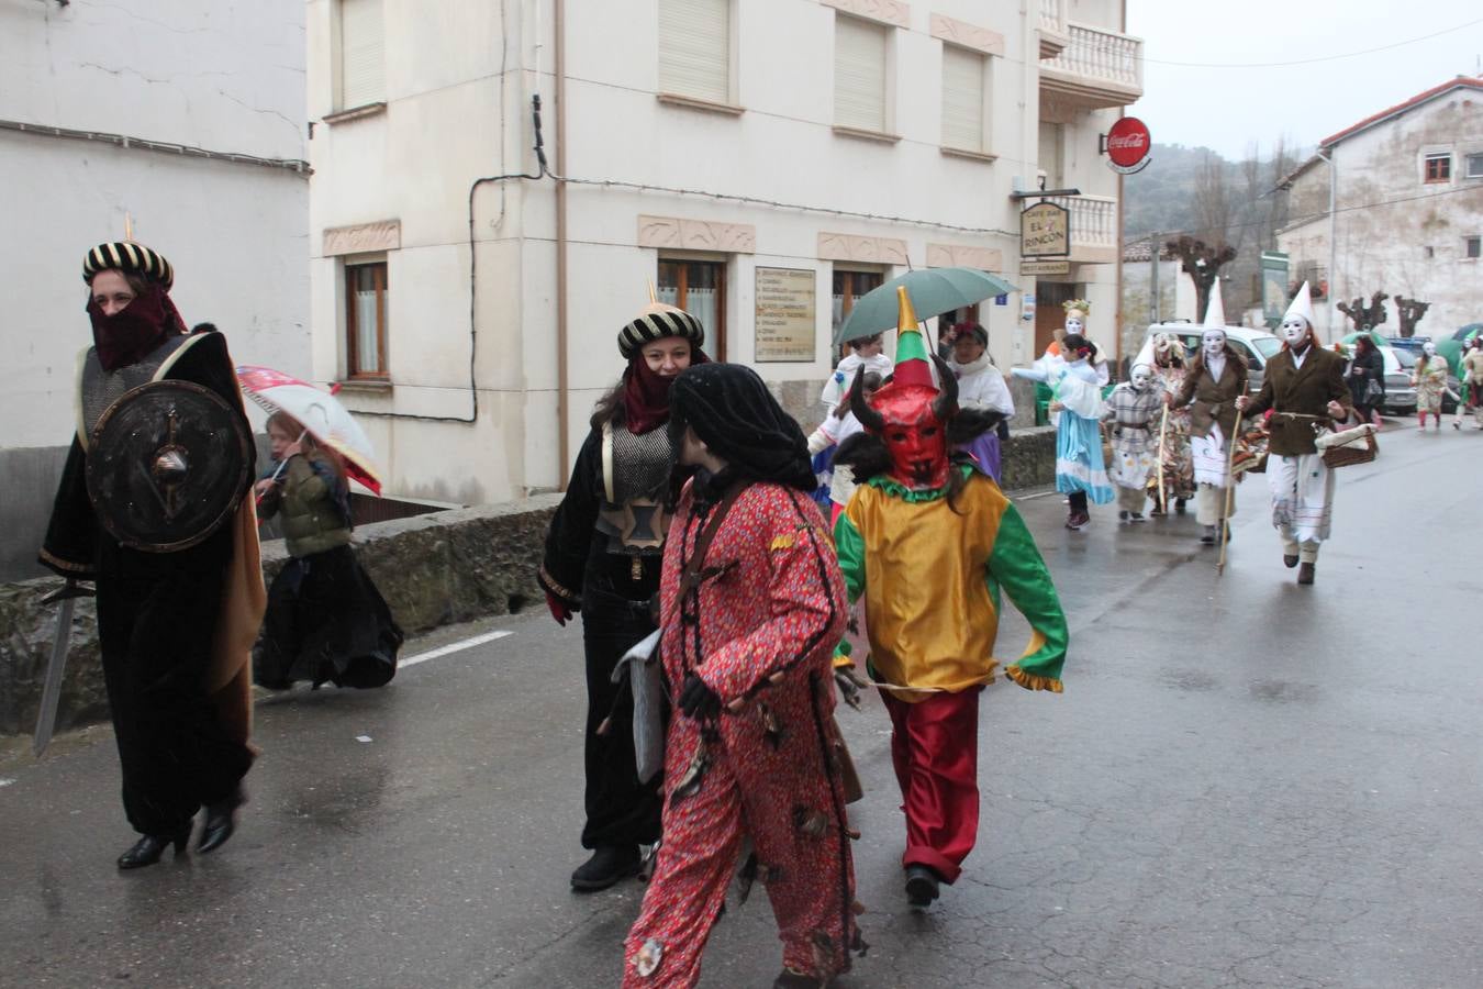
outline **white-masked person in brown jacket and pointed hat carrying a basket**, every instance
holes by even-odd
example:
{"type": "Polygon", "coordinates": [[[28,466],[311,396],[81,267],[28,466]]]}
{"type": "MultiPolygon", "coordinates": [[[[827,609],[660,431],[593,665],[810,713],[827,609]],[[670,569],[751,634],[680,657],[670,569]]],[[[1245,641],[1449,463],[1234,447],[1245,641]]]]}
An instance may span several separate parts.
{"type": "Polygon", "coordinates": [[[1283,540],[1283,565],[1298,566],[1298,583],[1314,583],[1318,546],[1333,520],[1333,472],[1314,445],[1320,427],[1354,415],[1344,383],[1344,357],[1317,344],[1312,302],[1304,282],[1281,326],[1286,345],[1266,362],[1262,391],[1243,394],[1235,408],[1259,415],[1271,409],[1266,485],[1272,492],[1272,526],[1283,540]]]}

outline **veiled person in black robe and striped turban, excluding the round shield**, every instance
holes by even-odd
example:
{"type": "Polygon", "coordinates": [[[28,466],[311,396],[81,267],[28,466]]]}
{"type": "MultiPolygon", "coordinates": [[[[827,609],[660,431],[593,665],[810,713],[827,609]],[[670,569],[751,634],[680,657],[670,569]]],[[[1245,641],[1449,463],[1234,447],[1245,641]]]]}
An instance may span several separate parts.
{"type": "MultiPolygon", "coordinates": [[[[172,844],[178,856],[206,808],[197,850],[221,847],[236,827],[242,778],[252,765],[249,654],[265,592],[257,516],[248,485],[236,509],[187,549],[125,546],[89,495],[92,458],[107,460],[95,431],[133,388],[185,381],[215,393],[251,436],[225,338],[187,335],[169,291],[175,271],[156,251],[102,243],[83,259],[93,345],[79,365],[79,423],[40,562],[70,580],[92,580],[104,682],[123,768],[123,808],[141,838],[120,869],[150,866],[172,844]]],[[[174,415],[174,414],[172,414],[174,415]]]]}

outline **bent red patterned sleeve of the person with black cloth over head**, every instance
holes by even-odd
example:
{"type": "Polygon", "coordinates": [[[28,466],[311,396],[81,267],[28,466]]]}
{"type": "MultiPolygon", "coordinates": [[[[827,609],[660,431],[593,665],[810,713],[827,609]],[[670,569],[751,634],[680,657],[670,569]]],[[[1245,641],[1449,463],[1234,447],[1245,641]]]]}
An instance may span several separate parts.
{"type": "Polygon", "coordinates": [[[742,575],[767,583],[768,617],[747,635],[710,649],[696,669],[722,704],[747,697],[774,673],[828,654],[844,635],[839,565],[819,513],[790,495],[779,497],[786,503],[767,510],[758,535],[767,540],[770,572],[742,575]]]}

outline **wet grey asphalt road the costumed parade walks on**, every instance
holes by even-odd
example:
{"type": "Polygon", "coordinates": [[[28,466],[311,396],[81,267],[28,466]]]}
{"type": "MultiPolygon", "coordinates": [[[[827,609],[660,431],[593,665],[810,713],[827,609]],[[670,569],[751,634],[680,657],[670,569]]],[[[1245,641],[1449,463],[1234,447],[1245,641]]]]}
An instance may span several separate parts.
{"type": "MultiPolygon", "coordinates": [[[[983,700],[980,844],[906,909],[879,704],[841,712],[872,949],[836,985],[1483,985],[1483,433],[1382,436],[1339,476],[1318,583],[1293,584],[1265,482],[1223,577],[1191,517],[1080,534],[1020,500],[1072,623],[1066,692],[983,700]],[[1471,639],[1470,639],[1470,629],[1471,639]]],[[[114,870],[132,842],[108,730],[0,746],[0,986],[612,986],[642,887],[577,896],[580,632],[449,629],[383,691],[257,707],[236,838],[114,870]]],[[[1017,615],[1000,649],[1016,655],[1017,615]]],[[[27,740],[28,741],[28,740],[27,740]]],[[[765,986],[765,897],[706,986],[765,986]]]]}

